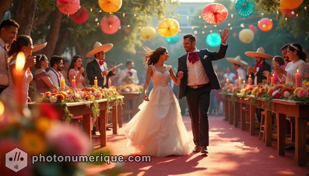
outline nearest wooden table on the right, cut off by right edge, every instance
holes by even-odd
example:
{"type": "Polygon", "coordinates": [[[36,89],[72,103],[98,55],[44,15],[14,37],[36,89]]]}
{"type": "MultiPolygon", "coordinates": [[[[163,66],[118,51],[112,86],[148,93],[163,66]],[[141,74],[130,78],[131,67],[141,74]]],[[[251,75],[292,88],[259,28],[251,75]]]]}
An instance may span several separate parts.
{"type": "Polygon", "coordinates": [[[295,165],[306,166],[307,118],[309,117],[309,104],[290,100],[271,100],[274,103],[277,118],[277,153],[285,155],[285,121],[286,115],[295,117],[295,165]]]}

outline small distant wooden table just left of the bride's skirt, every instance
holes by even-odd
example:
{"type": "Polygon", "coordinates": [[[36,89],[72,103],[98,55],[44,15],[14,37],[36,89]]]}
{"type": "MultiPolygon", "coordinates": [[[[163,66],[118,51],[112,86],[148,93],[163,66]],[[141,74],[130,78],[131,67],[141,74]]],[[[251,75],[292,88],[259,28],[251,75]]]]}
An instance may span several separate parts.
{"type": "Polygon", "coordinates": [[[142,103],[141,92],[121,92],[124,96],[125,109],[122,111],[124,115],[132,114],[132,117],[138,112],[138,106],[142,103]],[[132,109],[129,107],[129,100],[132,100],[132,109]]]}

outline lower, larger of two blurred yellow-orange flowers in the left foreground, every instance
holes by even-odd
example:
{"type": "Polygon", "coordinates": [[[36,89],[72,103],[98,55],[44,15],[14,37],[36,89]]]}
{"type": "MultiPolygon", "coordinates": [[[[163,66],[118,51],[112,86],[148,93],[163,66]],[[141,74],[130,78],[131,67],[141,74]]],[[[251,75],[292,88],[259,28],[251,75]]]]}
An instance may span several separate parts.
{"type": "Polygon", "coordinates": [[[45,141],[38,133],[25,132],[20,140],[21,144],[25,147],[26,152],[29,154],[38,155],[39,153],[45,152],[45,141]]]}

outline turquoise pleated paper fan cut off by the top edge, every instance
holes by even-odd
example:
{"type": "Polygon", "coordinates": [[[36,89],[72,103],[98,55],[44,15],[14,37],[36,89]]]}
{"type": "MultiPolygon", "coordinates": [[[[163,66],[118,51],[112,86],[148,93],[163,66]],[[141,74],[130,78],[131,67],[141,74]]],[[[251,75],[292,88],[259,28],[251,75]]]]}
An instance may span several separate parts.
{"type": "Polygon", "coordinates": [[[255,9],[255,2],[253,0],[237,0],[235,8],[240,16],[248,17],[255,9]]]}

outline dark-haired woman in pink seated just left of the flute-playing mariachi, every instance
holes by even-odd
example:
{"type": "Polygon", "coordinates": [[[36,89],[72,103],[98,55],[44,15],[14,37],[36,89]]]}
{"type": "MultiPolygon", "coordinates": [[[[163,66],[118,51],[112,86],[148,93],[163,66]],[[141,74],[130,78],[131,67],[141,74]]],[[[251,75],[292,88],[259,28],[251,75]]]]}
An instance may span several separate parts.
{"type": "Polygon", "coordinates": [[[76,81],[76,88],[84,88],[86,84],[85,69],[82,67],[83,59],[79,55],[74,55],[69,67],[68,78],[70,82],[74,79],[76,81]]]}

